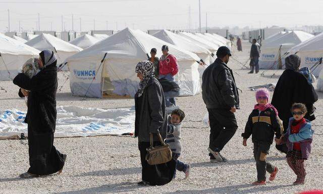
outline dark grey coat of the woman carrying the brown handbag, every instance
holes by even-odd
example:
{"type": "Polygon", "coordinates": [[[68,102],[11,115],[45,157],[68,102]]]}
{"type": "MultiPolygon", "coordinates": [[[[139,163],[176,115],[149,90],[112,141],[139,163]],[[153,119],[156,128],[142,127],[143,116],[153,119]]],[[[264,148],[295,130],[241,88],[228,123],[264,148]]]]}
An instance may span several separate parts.
{"type": "MultiPolygon", "coordinates": [[[[163,88],[156,78],[151,78],[142,95],[135,95],[135,136],[139,141],[149,141],[150,133],[157,133],[165,139],[167,133],[167,114],[163,88]]],[[[153,140],[158,141],[157,135],[153,140]]]]}

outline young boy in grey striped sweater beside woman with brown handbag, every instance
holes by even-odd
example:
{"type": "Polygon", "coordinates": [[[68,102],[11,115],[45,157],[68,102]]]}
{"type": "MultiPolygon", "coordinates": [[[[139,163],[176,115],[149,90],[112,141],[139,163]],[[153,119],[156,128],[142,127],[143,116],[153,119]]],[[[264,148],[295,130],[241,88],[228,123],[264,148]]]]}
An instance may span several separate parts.
{"type": "MultiPolygon", "coordinates": [[[[189,177],[190,174],[190,165],[184,164],[179,161],[178,158],[182,152],[181,144],[181,128],[182,121],[185,118],[185,114],[182,110],[176,109],[171,113],[171,116],[168,117],[168,128],[167,128],[167,137],[165,142],[170,145],[171,151],[173,153],[173,159],[176,161],[176,169],[185,173],[185,178],[189,177]]],[[[176,177],[176,171],[174,177],[176,177]]]]}

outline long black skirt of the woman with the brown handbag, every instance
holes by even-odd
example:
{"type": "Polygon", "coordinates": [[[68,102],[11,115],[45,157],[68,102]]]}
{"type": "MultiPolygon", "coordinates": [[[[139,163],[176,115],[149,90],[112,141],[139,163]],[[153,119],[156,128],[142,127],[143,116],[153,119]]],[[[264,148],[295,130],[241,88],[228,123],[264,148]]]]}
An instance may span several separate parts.
{"type": "MultiPolygon", "coordinates": [[[[153,146],[158,146],[161,143],[154,141],[153,146]]],[[[146,149],[149,148],[149,142],[138,142],[141,159],[141,178],[143,181],[149,182],[150,185],[164,185],[172,181],[176,170],[176,161],[171,160],[165,164],[149,165],[146,161],[146,149]]]]}

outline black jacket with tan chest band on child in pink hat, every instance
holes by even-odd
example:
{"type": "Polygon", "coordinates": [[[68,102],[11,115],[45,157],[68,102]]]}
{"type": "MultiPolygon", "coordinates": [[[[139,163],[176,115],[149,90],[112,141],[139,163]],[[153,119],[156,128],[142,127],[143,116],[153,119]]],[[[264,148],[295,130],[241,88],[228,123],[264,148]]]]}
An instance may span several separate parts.
{"type": "Polygon", "coordinates": [[[252,142],[273,143],[274,134],[280,138],[283,132],[283,126],[276,116],[273,109],[268,108],[259,113],[258,110],[253,110],[249,115],[243,138],[249,138],[252,134],[252,142]]]}

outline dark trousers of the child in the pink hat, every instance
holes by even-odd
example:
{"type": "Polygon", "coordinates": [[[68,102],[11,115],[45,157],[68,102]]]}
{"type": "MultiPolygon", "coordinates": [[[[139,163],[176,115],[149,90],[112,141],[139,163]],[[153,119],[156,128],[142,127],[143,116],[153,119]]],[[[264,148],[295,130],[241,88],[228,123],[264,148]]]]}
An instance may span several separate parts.
{"type": "Polygon", "coordinates": [[[268,173],[273,173],[275,171],[275,166],[266,161],[270,147],[270,143],[253,142],[253,156],[256,160],[258,181],[266,180],[266,171],[268,173]]]}

